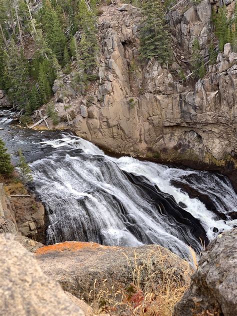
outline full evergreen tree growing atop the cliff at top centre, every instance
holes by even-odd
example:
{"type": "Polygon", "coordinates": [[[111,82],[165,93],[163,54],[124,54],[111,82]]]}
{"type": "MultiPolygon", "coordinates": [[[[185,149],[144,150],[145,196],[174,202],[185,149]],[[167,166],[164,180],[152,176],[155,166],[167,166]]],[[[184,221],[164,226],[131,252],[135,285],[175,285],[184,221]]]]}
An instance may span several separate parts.
{"type": "Polygon", "coordinates": [[[165,25],[164,9],[160,0],[144,0],[140,29],[140,57],[155,57],[163,63],[170,59],[171,41],[165,25]]]}

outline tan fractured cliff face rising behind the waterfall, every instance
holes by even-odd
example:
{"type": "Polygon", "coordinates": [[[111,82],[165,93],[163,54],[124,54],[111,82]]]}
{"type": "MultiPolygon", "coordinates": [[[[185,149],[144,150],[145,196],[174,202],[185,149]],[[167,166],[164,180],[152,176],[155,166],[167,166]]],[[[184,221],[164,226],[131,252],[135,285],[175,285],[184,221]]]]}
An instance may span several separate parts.
{"type": "MultiPolygon", "coordinates": [[[[66,99],[75,113],[72,127],[78,136],[118,153],[167,161],[172,156],[174,161],[175,155],[205,162],[235,155],[237,54],[225,44],[204,78],[191,79],[192,41],[197,38],[200,53],[208,55],[214,37],[211,6],[219,3],[184,2],[167,14],[173,62],[165,67],[156,60],[145,65],[139,60],[139,9],[121,3],[101,8],[100,81],[84,96],[68,89],[66,99]]],[[[234,1],[226,4],[233,14],[234,1]]],[[[60,100],[56,82],[54,91],[60,100]]],[[[60,112],[62,104],[55,107],[60,112]]]]}

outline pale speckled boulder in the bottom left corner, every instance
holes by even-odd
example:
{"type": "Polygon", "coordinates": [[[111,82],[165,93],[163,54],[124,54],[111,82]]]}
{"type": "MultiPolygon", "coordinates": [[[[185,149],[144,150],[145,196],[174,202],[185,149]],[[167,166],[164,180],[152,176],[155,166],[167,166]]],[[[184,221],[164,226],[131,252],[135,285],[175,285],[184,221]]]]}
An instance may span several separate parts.
{"type": "Polygon", "coordinates": [[[0,234],[0,253],[1,315],[85,315],[12,235],[0,234]]]}

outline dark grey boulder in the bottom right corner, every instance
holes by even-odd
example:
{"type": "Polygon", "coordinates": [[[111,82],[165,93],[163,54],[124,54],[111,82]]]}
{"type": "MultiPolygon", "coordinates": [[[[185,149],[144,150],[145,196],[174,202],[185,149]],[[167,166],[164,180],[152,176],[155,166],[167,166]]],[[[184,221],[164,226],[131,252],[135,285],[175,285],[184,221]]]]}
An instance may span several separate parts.
{"type": "Polygon", "coordinates": [[[237,314],[237,228],[219,234],[203,252],[174,316],[237,314]]]}

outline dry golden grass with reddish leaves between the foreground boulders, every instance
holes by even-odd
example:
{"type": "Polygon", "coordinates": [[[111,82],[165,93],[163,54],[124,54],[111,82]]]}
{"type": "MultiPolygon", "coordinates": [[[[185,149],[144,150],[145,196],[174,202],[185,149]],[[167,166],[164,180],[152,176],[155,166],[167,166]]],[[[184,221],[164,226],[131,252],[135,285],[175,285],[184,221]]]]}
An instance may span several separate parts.
{"type": "MultiPolygon", "coordinates": [[[[181,267],[169,266],[167,268],[165,265],[167,257],[160,252],[159,266],[157,271],[154,271],[151,258],[152,254],[150,258],[147,258],[144,269],[144,265],[137,264],[135,254],[134,264],[130,264],[133,281],[126,288],[116,291],[114,286],[106,288],[105,279],[103,289],[96,292],[95,280],[94,290],[89,294],[89,299],[92,301],[90,306],[93,312],[109,315],[172,315],[174,305],[181,299],[188,287],[190,276],[195,268],[186,261],[182,262],[181,267]]],[[[197,259],[193,249],[190,249],[190,259],[193,265],[196,266],[197,259]]]]}

